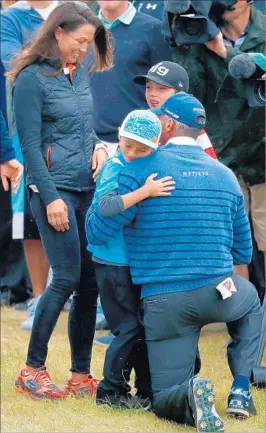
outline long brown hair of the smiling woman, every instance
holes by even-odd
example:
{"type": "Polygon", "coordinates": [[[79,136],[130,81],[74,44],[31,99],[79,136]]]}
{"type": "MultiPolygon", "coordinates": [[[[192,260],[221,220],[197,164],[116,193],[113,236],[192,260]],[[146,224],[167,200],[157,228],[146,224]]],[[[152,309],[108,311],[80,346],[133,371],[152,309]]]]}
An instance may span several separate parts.
{"type": "Polygon", "coordinates": [[[70,33],[84,24],[91,24],[96,29],[92,45],[95,59],[93,69],[96,71],[110,69],[113,63],[110,33],[86,4],[65,1],[51,12],[36,38],[14,60],[11,71],[6,74],[7,77],[15,81],[19,73],[26,66],[32,63],[42,63],[49,59],[59,61],[60,68],[57,71],[59,74],[62,71],[63,65],[55,38],[56,29],[61,27],[66,33],[70,33]]]}

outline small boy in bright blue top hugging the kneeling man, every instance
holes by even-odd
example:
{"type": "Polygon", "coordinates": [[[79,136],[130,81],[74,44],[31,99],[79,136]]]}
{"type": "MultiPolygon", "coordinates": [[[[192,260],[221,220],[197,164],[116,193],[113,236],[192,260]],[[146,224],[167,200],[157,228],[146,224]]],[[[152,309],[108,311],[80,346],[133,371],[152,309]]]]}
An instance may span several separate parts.
{"type": "MultiPolygon", "coordinates": [[[[124,120],[119,135],[119,150],[102,169],[96,184],[96,193],[86,219],[90,231],[90,215],[99,206],[104,216],[120,214],[148,197],[171,195],[174,182],[169,177],[155,180],[152,174],[146,183],[130,194],[117,195],[118,177],[122,168],[136,158],[154,152],[159,144],[161,123],[146,110],[135,110],[124,120]]],[[[123,218],[123,214],[121,214],[123,218]]],[[[104,227],[102,227],[104,233],[104,227]]],[[[138,321],[140,286],[131,280],[123,231],[116,239],[88,246],[95,262],[97,284],[108,325],[115,335],[104,364],[104,379],[97,390],[96,403],[111,407],[139,410],[150,408],[151,383],[143,327],[138,321]],[[128,384],[130,372],[135,369],[137,394],[132,397],[128,384]]]]}

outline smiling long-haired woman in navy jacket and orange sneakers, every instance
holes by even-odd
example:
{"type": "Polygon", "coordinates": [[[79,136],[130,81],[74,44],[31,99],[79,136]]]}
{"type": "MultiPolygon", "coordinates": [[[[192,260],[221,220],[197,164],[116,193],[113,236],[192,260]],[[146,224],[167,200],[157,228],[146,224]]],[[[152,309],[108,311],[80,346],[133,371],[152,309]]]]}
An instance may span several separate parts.
{"type": "Polygon", "coordinates": [[[107,154],[103,148],[94,150],[99,140],[92,129],[85,66],[89,47],[97,70],[111,67],[109,36],[101,21],[85,4],[64,2],[8,73],[15,82],[30,205],[53,271],[36,310],[26,368],[16,380],[18,391],[39,399],[94,395],[97,386],[90,360],[98,293],[84,221],[107,154]],[[58,316],[73,291],[68,327],[72,377],[62,391],[52,383],[45,361],[58,316]]]}

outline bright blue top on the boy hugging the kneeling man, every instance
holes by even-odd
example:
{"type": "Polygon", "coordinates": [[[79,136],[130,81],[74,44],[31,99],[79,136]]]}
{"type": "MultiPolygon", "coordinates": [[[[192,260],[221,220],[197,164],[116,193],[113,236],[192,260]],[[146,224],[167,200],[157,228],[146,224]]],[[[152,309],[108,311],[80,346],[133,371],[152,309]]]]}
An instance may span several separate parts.
{"type": "MultiPolygon", "coordinates": [[[[118,189],[118,177],[127,164],[120,150],[110,158],[102,168],[96,182],[96,191],[91,204],[91,208],[97,206],[100,197],[108,194],[110,191],[118,189]]],[[[88,215],[90,210],[88,211],[88,215]]],[[[88,218],[86,218],[86,232],[89,229],[88,218]]],[[[88,251],[92,252],[94,261],[101,261],[108,264],[115,264],[120,266],[127,266],[127,253],[124,233],[121,229],[116,238],[106,244],[90,245],[87,247],[88,251]],[[97,260],[98,259],[98,260],[97,260]]]]}

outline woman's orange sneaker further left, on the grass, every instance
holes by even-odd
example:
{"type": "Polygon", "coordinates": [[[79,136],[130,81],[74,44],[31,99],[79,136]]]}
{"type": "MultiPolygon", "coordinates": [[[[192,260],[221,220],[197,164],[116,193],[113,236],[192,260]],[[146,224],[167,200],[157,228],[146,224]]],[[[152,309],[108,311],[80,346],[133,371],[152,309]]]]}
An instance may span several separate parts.
{"type": "Polygon", "coordinates": [[[18,392],[37,400],[58,400],[65,398],[65,393],[51,381],[46,367],[40,367],[35,373],[22,369],[15,387],[18,392]]]}

